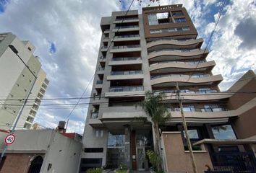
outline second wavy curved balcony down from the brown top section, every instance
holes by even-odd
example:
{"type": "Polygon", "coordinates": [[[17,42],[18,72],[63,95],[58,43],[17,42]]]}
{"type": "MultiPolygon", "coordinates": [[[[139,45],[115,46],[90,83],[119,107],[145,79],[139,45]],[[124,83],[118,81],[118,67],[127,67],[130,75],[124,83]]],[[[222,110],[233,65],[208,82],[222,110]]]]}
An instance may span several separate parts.
{"type": "Polygon", "coordinates": [[[202,59],[207,56],[208,50],[175,50],[175,49],[164,49],[154,51],[148,54],[148,61],[179,61],[189,59],[202,59]]]}

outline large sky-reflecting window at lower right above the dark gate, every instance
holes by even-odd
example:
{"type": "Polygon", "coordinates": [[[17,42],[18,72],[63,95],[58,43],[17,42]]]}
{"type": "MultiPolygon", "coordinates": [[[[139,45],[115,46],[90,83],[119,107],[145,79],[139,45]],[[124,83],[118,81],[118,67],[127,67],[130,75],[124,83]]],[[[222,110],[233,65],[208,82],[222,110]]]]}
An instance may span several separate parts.
{"type": "Polygon", "coordinates": [[[212,126],[213,136],[216,139],[236,139],[231,125],[216,125],[212,126]]]}

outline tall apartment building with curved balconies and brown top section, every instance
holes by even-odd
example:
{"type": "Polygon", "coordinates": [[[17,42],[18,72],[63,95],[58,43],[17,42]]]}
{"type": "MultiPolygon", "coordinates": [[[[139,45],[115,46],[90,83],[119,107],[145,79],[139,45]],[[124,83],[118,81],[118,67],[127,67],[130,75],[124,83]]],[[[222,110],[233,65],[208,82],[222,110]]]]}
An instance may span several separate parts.
{"type": "MultiPolygon", "coordinates": [[[[201,49],[203,40],[197,38],[182,4],[125,14],[113,12],[111,17],[101,19],[101,48],[85,123],[80,172],[120,164],[133,170],[149,169],[145,152],[153,148],[154,132],[150,121],[135,118],[146,117],[138,102],[145,99],[148,90],[165,92],[164,102],[170,106],[172,118],[161,127],[165,171],[192,172],[176,84],[189,136],[195,143],[193,149],[197,150],[199,172],[205,170],[205,164],[218,167],[221,154],[230,151],[238,153],[239,159],[244,154],[254,167],[254,156],[246,151],[255,151],[252,138],[256,129],[252,122],[256,123],[256,118],[248,113],[256,109],[252,104],[255,94],[234,93],[255,92],[255,74],[247,72],[229,92],[220,92],[218,84],[223,77],[212,74],[216,63],[206,60],[208,50],[201,49]]],[[[234,157],[229,158],[224,166],[234,164],[234,157]]]]}

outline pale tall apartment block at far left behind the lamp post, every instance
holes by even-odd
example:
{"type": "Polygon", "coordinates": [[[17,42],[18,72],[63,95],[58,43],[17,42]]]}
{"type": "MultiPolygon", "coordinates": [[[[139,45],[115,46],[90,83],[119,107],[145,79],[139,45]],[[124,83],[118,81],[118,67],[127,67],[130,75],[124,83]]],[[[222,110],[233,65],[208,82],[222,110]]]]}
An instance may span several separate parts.
{"type": "Polygon", "coordinates": [[[46,72],[41,68],[38,57],[33,53],[35,47],[29,41],[21,41],[11,32],[0,34],[0,128],[10,130],[14,125],[28,91],[35,77],[25,67],[24,61],[37,76],[30,97],[22,111],[17,129],[30,129],[40,105],[40,99],[46,92],[48,80],[46,72]],[[14,53],[9,45],[13,45],[18,53],[14,53]],[[20,58],[22,60],[20,60],[20,58]]]}

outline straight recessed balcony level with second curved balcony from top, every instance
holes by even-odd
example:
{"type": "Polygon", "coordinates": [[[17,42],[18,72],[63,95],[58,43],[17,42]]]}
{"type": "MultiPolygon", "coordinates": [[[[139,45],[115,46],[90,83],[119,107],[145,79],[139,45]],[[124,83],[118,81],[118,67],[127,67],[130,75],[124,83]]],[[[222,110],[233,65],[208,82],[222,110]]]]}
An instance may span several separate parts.
{"type": "Polygon", "coordinates": [[[108,62],[109,66],[122,66],[132,64],[142,64],[140,52],[113,53],[113,58],[108,62]]]}

